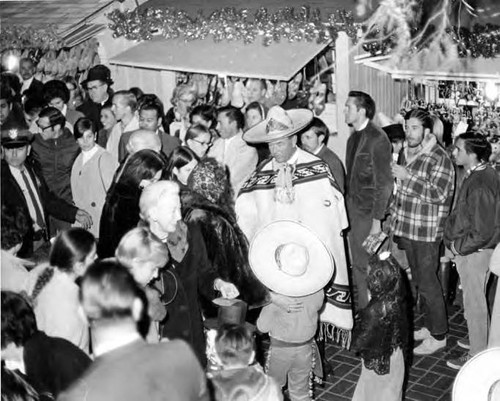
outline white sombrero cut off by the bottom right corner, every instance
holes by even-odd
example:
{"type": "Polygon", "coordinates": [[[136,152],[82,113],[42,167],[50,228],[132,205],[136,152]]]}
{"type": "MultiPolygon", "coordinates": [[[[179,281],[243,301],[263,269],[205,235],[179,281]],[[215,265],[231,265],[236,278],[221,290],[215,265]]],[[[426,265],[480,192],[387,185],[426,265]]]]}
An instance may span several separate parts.
{"type": "Polygon", "coordinates": [[[500,347],[489,348],[467,361],[453,384],[453,401],[500,399],[500,347]]]}

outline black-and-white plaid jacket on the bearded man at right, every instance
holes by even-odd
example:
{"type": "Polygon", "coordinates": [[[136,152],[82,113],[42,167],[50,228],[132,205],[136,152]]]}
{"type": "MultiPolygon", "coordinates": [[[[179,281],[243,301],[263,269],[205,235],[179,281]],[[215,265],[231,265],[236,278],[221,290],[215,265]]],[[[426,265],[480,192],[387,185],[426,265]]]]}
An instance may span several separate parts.
{"type": "Polygon", "coordinates": [[[455,168],[446,151],[434,144],[406,166],[410,178],[397,183],[391,204],[392,232],[414,241],[442,239],[455,189],[455,168]]]}

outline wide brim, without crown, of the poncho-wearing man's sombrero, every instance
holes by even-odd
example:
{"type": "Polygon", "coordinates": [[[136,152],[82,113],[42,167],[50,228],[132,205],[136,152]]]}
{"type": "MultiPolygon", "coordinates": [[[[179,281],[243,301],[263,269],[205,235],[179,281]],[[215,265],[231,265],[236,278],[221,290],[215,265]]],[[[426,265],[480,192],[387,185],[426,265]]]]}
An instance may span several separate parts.
{"type": "Polygon", "coordinates": [[[276,141],[278,139],[287,138],[305,128],[313,119],[312,111],[307,109],[288,110],[287,114],[292,120],[293,128],[285,131],[268,133],[266,131],[268,123],[266,119],[245,132],[243,134],[243,139],[248,143],[267,143],[276,141]]]}

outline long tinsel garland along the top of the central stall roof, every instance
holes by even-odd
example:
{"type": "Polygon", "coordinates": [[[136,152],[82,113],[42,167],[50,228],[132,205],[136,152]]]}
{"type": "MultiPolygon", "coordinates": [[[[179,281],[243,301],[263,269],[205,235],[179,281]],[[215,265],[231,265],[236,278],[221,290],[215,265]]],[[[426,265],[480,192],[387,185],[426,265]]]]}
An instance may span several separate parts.
{"type": "Polygon", "coordinates": [[[215,42],[236,40],[252,43],[257,36],[262,36],[263,45],[269,46],[281,40],[327,43],[335,40],[340,31],[355,40],[357,32],[351,12],[338,10],[323,21],[319,9],[308,6],[300,7],[298,11],[285,7],[272,13],[261,7],[253,18],[248,9],[237,10],[234,7],[214,11],[208,17],[200,11],[192,18],[174,8],[125,12],[116,9],[107,17],[111,20],[109,28],[115,38],[123,36],[136,41],[150,40],[153,35],[159,34],[166,39],[183,37],[186,41],[212,35],[215,42]]]}

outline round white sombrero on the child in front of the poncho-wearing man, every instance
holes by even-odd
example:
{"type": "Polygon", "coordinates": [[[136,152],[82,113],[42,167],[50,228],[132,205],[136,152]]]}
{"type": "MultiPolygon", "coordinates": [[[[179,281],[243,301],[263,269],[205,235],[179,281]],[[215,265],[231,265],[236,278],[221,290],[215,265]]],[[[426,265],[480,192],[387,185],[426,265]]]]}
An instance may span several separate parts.
{"type": "Polygon", "coordinates": [[[255,234],[249,251],[250,266],[270,290],[301,297],[321,290],[333,276],[332,254],[303,224],[278,220],[255,234]]]}

